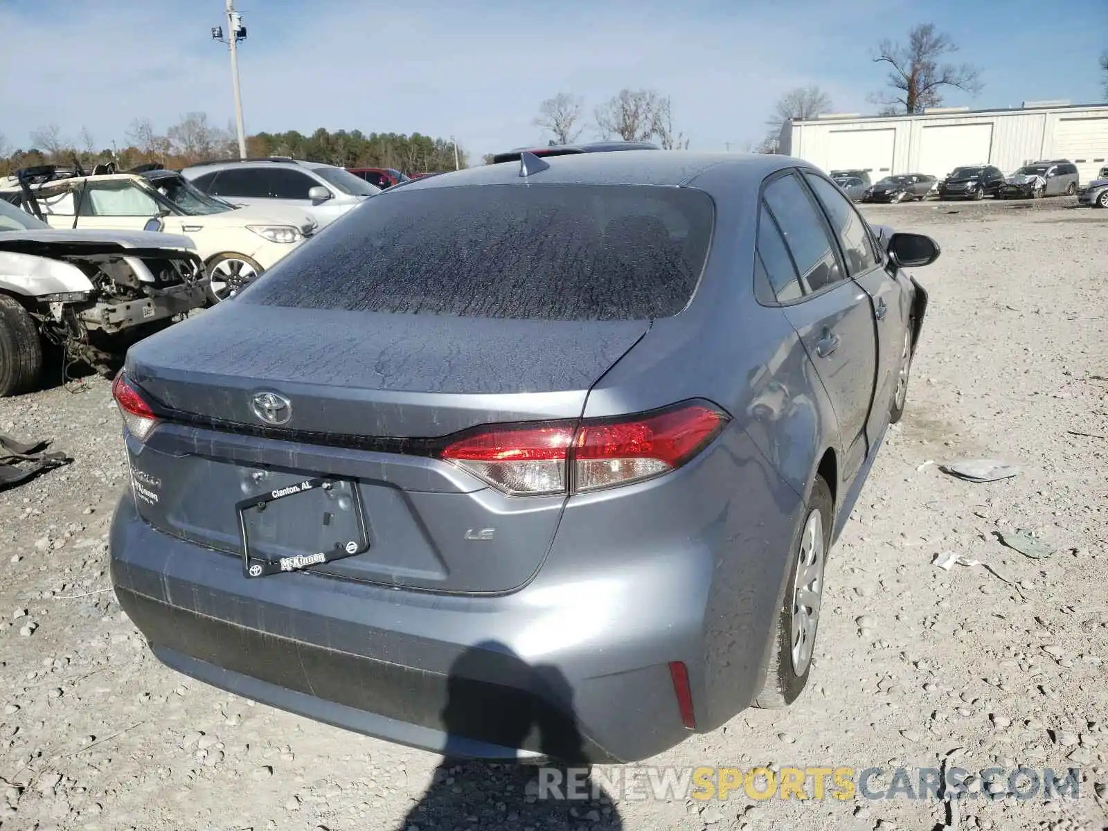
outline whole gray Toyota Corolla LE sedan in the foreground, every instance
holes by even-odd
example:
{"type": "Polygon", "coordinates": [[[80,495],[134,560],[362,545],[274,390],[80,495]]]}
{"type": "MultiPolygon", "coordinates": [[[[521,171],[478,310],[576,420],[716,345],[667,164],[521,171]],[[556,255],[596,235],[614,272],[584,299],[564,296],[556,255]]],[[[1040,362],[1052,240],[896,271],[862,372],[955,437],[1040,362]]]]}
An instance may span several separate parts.
{"type": "Polygon", "coordinates": [[[938,256],[878,230],[774,155],[386,191],[131,349],[120,604],[186,675],[453,756],[788,704],[938,256]]]}

